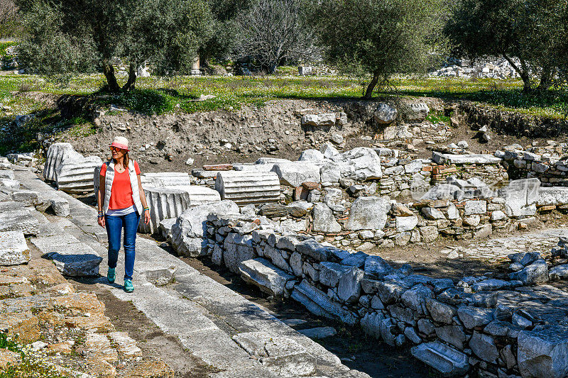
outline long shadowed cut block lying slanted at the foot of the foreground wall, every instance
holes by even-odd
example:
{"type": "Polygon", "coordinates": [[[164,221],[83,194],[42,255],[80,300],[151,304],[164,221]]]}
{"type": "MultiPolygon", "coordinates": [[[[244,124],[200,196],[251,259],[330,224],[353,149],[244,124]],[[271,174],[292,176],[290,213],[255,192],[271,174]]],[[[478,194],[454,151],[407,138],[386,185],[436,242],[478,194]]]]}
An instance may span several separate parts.
{"type": "Polygon", "coordinates": [[[342,308],[340,304],[332,301],[327,294],[305,279],[294,287],[292,298],[316,315],[342,321],[351,326],[358,322],[357,317],[351,311],[342,308]]]}

